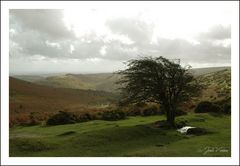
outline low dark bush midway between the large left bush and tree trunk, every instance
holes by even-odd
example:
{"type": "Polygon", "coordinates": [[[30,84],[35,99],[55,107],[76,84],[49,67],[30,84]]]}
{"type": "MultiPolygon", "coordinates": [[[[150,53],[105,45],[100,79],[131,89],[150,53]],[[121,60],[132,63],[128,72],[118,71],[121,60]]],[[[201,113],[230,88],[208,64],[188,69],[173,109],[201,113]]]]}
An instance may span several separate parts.
{"type": "Polygon", "coordinates": [[[115,121],[115,120],[121,120],[125,118],[126,118],[125,112],[120,110],[104,111],[102,113],[103,120],[115,121]]]}

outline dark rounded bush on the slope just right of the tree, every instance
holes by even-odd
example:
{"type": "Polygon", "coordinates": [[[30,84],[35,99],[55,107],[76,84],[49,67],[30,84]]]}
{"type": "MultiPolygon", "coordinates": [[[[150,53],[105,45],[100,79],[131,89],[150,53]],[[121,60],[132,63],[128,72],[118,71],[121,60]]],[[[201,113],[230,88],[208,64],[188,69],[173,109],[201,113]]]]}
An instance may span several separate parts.
{"type": "Polygon", "coordinates": [[[200,102],[194,110],[196,113],[220,113],[221,108],[217,104],[213,104],[209,101],[200,102]]]}

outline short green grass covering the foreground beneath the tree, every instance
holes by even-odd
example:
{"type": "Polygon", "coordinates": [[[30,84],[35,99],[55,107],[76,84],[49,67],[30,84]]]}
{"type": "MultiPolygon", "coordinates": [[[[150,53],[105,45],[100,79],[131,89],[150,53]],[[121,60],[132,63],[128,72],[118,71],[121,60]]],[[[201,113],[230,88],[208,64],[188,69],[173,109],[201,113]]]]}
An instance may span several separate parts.
{"type": "Polygon", "coordinates": [[[201,136],[154,128],[152,123],[162,119],[165,117],[130,117],[111,122],[96,120],[52,127],[14,127],[10,129],[10,156],[231,156],[230,116],[191,113],[177,118],[210,131],[201,136]],[[218,149],[204,153],[207,147],[229,151],[218,149]]]}

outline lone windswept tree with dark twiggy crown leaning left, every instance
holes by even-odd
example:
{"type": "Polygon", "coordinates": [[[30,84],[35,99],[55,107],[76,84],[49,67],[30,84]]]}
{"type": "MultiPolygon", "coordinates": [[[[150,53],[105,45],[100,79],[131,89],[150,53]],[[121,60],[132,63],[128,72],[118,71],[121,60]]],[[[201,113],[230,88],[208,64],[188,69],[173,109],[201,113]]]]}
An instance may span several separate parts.
{"type": "Polygon", "coordinates": [[[127,69],[117,72],[122,76],[117,82],[121,85],[120,104],[159,103],[167,122],[174,126],[177,105],[200,90],[189,69],[163,57],[129,61],[127,69]]]}

